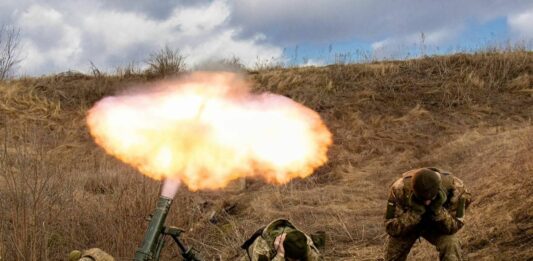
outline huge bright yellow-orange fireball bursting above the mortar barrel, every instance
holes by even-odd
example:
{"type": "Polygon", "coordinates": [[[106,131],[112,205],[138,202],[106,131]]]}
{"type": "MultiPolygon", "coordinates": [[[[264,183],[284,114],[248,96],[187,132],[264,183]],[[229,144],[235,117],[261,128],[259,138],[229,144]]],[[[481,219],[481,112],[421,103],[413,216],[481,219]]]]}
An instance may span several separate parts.
{"type": "Polygon", "coordinates": [[[332,140],[320,116],[280,95],[252,94],[248,85],[233,73],[192,73],[106,97],[87,124],[107,153],[193,191],[240,177],[283,184],[311,175],[332,140]]]}

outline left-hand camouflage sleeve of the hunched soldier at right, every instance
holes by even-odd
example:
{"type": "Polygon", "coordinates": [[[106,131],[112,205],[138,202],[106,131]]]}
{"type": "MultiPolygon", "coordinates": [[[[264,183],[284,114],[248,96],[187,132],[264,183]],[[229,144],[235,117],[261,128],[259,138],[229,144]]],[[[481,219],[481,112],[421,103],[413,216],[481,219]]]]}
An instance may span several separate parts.
{"type": "Polygon", "coordinates": [[[420,223],[420,220],[422,220],[422,216],[413,212],[411,209],[402,209],[398,198],[394,189],[391,188],[386,213],[386,218],[389,218],[385,220],[385,230],[393,237],[410,233],[420,223]],[[394,205],[394,210],[391,209],[392,205],[394,205]],[[391,214],[391,212],[394,213],[391,214]]]}

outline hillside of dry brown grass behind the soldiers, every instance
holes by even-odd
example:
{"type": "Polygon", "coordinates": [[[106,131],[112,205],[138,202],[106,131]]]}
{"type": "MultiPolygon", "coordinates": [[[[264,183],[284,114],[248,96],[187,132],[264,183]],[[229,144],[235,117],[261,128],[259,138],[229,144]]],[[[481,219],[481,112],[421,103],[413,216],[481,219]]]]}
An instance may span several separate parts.
{"type": "MultiPolygon", "coordinates": [[[[254,90],[316,110],[334,134],[329,163],[276,187],[178,192],[168,224],[212,259],[233,260],[261,225],[288,217],[325,230],[327,260],[376,260],[387,190],[411,168],[438,166],[474,202],[459,232],[472,260],[533,258],[533,53],[248,72],[254,90]]],[[[0,84],[0,257],[59,260],[100,247],[129,260],[159,184],[106,155],[85,112],[144,75],[56,75],[0,84]]],[[[436,258],[425,241],[411,260],[436,258]]],[[[167,247],[166,259],[176,248],[167,247]]]]}

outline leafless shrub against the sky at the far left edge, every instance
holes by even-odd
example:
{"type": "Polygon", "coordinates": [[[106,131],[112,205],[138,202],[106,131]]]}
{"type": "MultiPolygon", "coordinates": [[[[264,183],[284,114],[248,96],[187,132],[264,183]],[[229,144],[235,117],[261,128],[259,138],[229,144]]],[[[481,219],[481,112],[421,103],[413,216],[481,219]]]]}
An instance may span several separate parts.
{"type": "Polygon", "coordinates": [[[0,26],[0,80],[11,76],[19,59],[20,30],[13,26],[0,26]]]}

